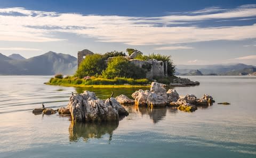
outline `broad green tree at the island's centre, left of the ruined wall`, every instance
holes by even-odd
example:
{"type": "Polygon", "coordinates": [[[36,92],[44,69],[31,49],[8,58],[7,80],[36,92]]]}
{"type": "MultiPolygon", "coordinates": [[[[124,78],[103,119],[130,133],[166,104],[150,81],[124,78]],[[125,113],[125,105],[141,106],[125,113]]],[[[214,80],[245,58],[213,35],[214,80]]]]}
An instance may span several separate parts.
{"type": "Polygon", "coordinates": [[[127,78],[145,78],[146,72],[132,64],[123,57],[115,57],[108,63],[108,67],[102,72],[105,78],[127,77],[127,78]]]}

